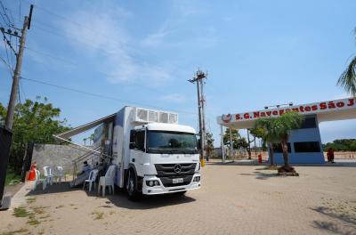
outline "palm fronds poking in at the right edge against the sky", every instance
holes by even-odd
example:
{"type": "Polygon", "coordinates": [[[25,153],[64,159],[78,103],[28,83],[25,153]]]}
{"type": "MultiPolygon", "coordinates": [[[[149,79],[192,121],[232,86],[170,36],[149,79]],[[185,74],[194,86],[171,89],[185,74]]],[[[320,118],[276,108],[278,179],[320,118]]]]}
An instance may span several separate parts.
{"type": "MultiPolygon", "coordinates": [[[[354,29],[354,33],[356,35],[356,28],[354,29]]],[[[352,96],[356,96],[356,56],[353,57],[349,66],[337,80],[337,85],[342,86],[352,96]]]]}

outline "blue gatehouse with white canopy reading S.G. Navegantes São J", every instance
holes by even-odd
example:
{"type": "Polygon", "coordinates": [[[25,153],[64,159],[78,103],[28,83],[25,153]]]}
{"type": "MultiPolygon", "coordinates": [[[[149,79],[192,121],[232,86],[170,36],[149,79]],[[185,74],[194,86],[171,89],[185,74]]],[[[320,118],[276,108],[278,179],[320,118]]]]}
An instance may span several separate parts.
{"type": "MultiPolygon", "coordinates": [[[[217,123],[230,129],[250,129],[255,127],[258,118],[276,118],[287,111],[297,111],[304,115],[301,128],[293,130],[288,140],[288,157],[291,164],[323,164],[325,162],[320,138],[320,122],[356,118],[356,99],[346,98],[335,101],[279,107],[277,109],[227,114],[217,117],[217,123]]],[[[274,162],[283,164],[283,154],[280,143],[272,144],[274,162]]],[[[232,147],[232,146],[231,146],[232,147]]],[[[270,152],[270,151],[269,151],[270,152]]],[[[223,160],[224,160],[223,152],[223,160]]]]}

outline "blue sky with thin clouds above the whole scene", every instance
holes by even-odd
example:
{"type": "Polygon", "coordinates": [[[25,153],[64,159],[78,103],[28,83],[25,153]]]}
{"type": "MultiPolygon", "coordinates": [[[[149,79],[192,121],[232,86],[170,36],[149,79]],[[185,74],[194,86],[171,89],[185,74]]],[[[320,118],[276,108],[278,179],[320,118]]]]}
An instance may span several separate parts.
{"type": "MultiPolygon", "coordinates": [[[[197,69],[208,75],[206,126],[216,146],[219,115],[348,97],[336,80],[356,53],[353,0],[1,2],[17,28],[35,4],[20,101],[47,97],[70,126],[134,105],[176,111],[180,124],[198,129],[188,82],[197,69]]],[[[4,43],[0,56],[6,61],[4,43]]],[[[7,106],[12,77],[3,61],[0,74],[7,106]]],[[[356,120],[320,123],[320,134],[322,142],[356,138],[356,120]]]]}

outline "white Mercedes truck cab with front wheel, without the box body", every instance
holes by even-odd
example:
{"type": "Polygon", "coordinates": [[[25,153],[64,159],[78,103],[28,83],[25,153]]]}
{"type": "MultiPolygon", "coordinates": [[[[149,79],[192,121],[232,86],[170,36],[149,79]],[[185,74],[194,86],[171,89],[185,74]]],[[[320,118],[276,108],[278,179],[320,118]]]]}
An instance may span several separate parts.
{"type": "Polygon", "coordinates": [[[125,174],[129,198],[141,193],[184,193],[199,187],[198,142],[192,127],[149,123],[130,130],[125,174]]]}

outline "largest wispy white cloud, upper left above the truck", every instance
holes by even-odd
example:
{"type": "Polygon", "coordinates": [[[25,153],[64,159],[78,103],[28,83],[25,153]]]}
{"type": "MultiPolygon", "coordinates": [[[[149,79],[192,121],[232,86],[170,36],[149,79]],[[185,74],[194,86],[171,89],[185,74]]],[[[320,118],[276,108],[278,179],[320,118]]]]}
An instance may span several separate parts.
{"type": "Polygon", "coordinates": [[[169,69],[135,61],[130,53],[131,45],[137,40],[125,30],[123,23],[131,15],[117,4],[98,3],[72,12],[69,19],[80,25],[61,21],[60,27],[76,50],[97,61],[97,69],[105,71],[110,82],[144,81],[154,86],[165,85],[172,77],[169,69]]]}

